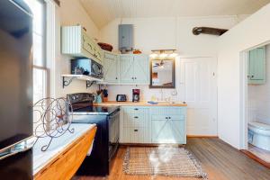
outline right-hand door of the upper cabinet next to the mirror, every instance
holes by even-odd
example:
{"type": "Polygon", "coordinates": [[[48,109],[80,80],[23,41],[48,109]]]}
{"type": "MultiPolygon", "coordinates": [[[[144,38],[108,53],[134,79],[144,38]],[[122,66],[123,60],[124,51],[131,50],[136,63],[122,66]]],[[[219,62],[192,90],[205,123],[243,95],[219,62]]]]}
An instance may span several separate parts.
{"type": "Polygon", "coordinates": [[[149,61],[146,55],[134,56],[134,83],[149,84],[149,61]]]}

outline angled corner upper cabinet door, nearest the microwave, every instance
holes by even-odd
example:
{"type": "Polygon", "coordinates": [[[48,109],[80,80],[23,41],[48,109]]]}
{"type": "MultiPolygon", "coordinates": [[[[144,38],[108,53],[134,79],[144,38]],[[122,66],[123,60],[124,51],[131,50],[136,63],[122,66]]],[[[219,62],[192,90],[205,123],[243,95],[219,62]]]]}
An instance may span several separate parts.
{"type": "Polygon", "coordinates": [[[104,81],[107,83],[118,82],[117,56],[104,52],[103,67],[104,81]]]}

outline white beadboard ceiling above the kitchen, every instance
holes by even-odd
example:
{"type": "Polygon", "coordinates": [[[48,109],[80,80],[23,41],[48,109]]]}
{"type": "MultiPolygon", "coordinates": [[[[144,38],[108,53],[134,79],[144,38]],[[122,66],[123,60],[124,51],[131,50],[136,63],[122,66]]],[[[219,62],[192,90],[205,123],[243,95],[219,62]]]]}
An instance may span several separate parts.
{"type": "Polygon", "coordinates": [[[79,0],[98,28],[115,18],[253,14],[270,0],[79,0]]]}

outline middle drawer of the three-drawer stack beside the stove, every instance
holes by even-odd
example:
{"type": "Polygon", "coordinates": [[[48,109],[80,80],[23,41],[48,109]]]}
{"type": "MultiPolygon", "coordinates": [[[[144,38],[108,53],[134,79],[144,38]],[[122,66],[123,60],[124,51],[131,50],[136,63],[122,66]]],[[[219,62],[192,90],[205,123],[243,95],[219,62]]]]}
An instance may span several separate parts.
{"type": "Polygon", "coordinates": [[[145,114],[125,114],[123,122],[124,127],[148,127],[148,117],[145,114]]]}

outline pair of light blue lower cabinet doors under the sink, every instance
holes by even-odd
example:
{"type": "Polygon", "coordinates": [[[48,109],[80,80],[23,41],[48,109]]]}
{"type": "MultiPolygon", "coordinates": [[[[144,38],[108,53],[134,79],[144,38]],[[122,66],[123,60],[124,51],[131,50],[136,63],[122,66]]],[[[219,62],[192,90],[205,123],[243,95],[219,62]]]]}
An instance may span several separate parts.
{"type": "Polygon", "coordinates": [[[152,143],[184,144],[184,121],[164,119],[152,120],[152,143]]]}

